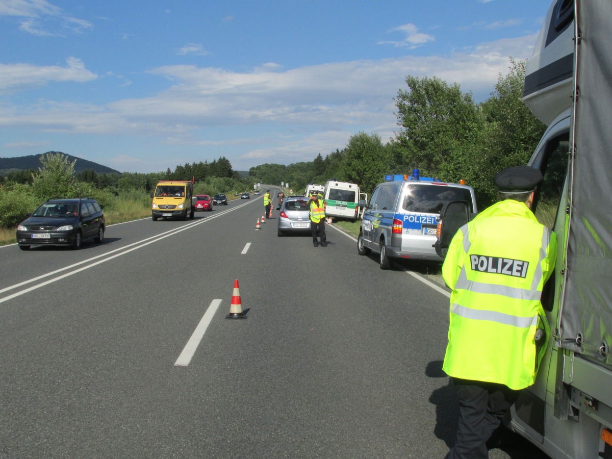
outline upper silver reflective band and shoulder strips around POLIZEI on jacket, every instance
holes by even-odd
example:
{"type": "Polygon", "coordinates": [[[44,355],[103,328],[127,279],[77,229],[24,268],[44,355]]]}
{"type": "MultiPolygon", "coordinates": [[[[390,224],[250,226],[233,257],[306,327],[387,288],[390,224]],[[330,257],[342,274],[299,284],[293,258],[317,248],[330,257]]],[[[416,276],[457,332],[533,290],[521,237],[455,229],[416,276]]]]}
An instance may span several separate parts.
{"type": "MultiPolygon", "coordinates": [[[[540,259],[535,266],[534,277],[531,282],[531,289],[514,288],[506,285],[497,285],[484,282],[474,282],[468,280],[468,274],[465,270],[465,264],[461,267],[459,278],[455,283],[455,289],[465,289],[474,293],[489,293],[495,295],[503,295],[517,300],[540,300],[542,292],[538,289],[540,280],[542,280],[542,261],[546,258],[548,244],[550,243],[551,231],[546,226],[542,232],[542,245],[540,247],[540,259]]],[[[463,250],[468,253],[471,242],[469,241],[469,232],[466,228],[465,236],[463,236],[463,250]]]]}

